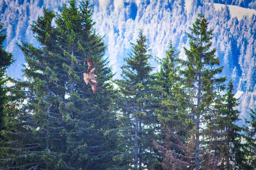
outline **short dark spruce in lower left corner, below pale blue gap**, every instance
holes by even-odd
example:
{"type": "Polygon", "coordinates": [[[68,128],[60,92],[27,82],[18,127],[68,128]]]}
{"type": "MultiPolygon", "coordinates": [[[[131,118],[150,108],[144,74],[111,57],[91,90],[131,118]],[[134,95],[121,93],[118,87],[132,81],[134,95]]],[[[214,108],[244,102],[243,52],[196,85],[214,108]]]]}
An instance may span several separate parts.
{"type": "Polygon", "coordinates": [[[35,159],[40,157],[40,143],[33,138],[33,120],[26,103],[26,89],[22,81],[9,79],[12,86],[6,87],[8,103],[4,104],[4,125],[0,140],[1,169],[36,168],[35,159]]]}

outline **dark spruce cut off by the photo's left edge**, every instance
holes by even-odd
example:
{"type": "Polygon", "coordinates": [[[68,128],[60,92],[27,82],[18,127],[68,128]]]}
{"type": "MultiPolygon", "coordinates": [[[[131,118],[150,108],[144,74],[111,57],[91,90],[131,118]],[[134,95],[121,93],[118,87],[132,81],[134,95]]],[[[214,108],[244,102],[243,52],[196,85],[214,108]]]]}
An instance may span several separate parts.
{"type": "Polygon", "coordinates": [[[39,146],[29,138],[32,132],[25,89],[20,81],[6,75],[13,56],[3,50],[4,39],[4,25],[0,24],[0,169],[28,169],[36,165],[29,158],[39,146]]]}

